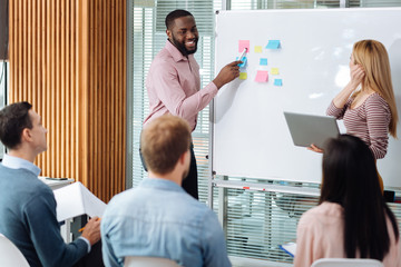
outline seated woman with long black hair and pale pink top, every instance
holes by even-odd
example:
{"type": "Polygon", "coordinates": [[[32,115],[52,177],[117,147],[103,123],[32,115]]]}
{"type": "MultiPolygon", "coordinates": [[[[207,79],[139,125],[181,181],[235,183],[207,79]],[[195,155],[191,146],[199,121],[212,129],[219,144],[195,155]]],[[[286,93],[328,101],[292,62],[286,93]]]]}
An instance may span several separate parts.
{"type": "Polygon", "coordinates": [[[329,141],[320,205],[302,215],[296,247],[295,267],[320,258],[373,258],[401,266],[395,217],[381,194],[374,157],[358,137],[329,141]]]}

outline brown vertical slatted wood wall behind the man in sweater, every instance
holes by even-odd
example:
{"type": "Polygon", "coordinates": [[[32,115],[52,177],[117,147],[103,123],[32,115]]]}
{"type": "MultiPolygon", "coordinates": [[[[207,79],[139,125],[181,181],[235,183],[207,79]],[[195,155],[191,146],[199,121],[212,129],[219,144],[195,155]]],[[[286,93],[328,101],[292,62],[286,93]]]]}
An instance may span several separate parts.
{"type": "Polygon", "coordinates": [[[42,176],[108,201],[125,189],[126,1],[10,0],[9,102],[48,129],[42,176]]]}

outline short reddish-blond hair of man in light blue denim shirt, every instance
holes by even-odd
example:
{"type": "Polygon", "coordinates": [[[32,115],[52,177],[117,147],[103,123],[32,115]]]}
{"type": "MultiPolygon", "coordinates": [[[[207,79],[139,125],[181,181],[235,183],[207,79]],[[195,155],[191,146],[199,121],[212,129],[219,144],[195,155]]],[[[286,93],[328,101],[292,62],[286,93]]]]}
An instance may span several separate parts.
{"type": "Polygon", "coordinates": [[[179,157],[188,151],[190,129],[184,119],[164,115],[145,126],[140,135],[140,148],[149,170],[166,175],[176,166],[179,157]]]}

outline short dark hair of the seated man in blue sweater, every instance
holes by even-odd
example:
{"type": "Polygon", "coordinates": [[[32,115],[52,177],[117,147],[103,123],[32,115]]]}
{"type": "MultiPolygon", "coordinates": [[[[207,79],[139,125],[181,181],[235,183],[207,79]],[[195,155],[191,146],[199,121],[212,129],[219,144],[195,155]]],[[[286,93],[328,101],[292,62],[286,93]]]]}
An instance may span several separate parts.
{"type": "Polygon", "coordinates": [[[28,113],[31,108],[29,102],[16,102],[0,110],[0,140],[7,148],[13,149],[20,145],[23,129],[32,129],[28,113]]]}

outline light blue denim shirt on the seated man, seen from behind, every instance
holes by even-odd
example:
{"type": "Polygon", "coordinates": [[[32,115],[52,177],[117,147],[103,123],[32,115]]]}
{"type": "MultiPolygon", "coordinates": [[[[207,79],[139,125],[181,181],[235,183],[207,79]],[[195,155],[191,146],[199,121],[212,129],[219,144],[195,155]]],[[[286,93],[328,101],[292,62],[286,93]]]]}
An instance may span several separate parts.
{"type": "Polygon", "coordinates": [[[231,266],[217,216],[177,184],[146,178],[111,199],[101,219],[106,266],[126,256],[163,257],[178,265],[231,266]]]}

